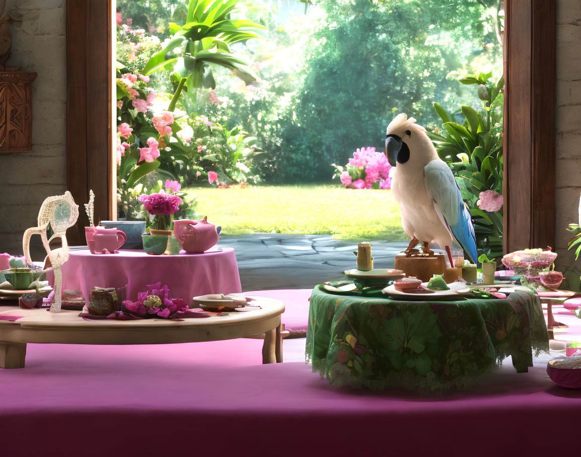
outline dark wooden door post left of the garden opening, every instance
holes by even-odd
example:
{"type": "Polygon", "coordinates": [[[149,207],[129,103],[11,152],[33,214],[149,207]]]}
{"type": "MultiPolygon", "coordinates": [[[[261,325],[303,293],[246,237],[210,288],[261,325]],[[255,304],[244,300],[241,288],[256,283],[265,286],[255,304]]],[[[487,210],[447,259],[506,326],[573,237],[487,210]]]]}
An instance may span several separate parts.
{"type": "MultiPolygon", "coordinates": [[[[114,3],[113,3],[114,5],[114,3]]],[[[112,2],[67,0],[67,190],[78,205],[95,192],[95,222],[116,216],[113,205],[112,2]]],[[[70,244],[85,244],[83,207],[67,232],[70,244]]]]}

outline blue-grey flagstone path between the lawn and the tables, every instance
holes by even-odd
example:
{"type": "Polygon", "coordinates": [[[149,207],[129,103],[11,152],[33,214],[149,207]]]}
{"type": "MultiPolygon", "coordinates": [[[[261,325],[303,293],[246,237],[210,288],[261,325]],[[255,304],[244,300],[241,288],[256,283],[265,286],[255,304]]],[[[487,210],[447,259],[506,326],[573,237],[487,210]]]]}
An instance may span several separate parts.
{"type": "MultiPolygon", "coordinates": [[[[407,241],[372,241],[375,268],[393,268],[395,256],[407,241]]],[[[220,235],[218,246],[234,248],[242,291],[302,289],[329,280],[345,279],[356,267],[357,242],[331,235],[253,233],[220,235]]]]}

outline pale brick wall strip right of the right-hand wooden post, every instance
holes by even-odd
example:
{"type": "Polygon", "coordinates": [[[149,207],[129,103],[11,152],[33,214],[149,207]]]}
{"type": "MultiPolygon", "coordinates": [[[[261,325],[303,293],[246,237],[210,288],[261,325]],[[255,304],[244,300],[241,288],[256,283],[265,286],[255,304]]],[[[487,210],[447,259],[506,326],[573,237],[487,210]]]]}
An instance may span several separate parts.
{"type": "MultiPolygon", "coordinates": [[[[578,223],[581,194],[581,0],[557,2],[557,189],[555,237],[560,269],[573,264],[569,223],[578,223]]],[[[579,262],[581,263],[581,262],[579,262]]]]}

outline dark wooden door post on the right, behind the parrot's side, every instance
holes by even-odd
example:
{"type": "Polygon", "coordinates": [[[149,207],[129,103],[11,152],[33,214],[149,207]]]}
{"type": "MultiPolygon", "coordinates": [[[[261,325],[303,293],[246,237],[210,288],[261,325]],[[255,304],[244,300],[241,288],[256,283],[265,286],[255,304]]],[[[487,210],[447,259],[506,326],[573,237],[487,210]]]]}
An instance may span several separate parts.
{"type": "Polygon", "coordinates": [[[555,246],[556,55],[556,2],[507,0],[503,129],[505,252],[555,246]]]}

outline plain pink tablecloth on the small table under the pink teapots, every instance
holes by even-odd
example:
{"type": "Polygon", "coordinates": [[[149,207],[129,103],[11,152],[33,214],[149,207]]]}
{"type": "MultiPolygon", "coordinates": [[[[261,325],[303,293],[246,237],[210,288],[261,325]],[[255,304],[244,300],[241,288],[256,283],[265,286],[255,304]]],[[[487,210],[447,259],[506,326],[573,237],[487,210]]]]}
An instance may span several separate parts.
{"type": "Polygon", "coordinates": [[[119,254],[91,254],[81,249],[70,251],[61,270],[63,290],[80,290],[85,299],[93,287],[126,285],[127,299],[137,300],[146,284],[157,281],[168,285],[172,298],[188,303],[197,295],[242,291],[232,248],[212,248],[203,254],[182,251],[178,255],[149,255],[130,249],[120,249],[119,254]]]}

